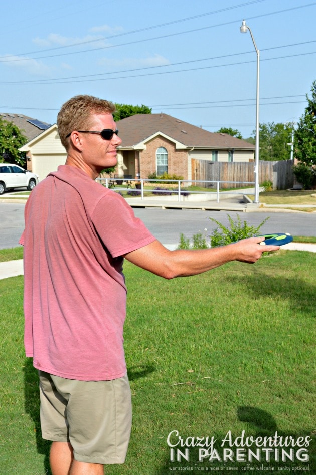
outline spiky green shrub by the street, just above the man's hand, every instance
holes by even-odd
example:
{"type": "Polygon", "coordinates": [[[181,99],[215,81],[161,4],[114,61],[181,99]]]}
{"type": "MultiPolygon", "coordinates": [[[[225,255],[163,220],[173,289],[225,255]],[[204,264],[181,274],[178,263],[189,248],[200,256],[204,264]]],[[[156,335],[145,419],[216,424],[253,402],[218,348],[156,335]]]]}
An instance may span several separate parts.
{"type": "Polygon", "coordinates": [[[234,221],[229,214],[227,214],[227,216],[230,227],[224,226],[224,224],[220,223],[214,218],[208,218],[215,222],[215,224],[218,226],[210,235],[210,244],[212,248],[225,246],[226,244],[235,243],[240,239],[246,239],[246,237],[255,236],[258,233],[260,227],[263,226],[263,224],[269,219],[269,217],[265,218],[261,224],[259,224],[259,226],[255,227],[250,226],[246,220],[242,223],[238,214],[236,221],[234,221]]]}

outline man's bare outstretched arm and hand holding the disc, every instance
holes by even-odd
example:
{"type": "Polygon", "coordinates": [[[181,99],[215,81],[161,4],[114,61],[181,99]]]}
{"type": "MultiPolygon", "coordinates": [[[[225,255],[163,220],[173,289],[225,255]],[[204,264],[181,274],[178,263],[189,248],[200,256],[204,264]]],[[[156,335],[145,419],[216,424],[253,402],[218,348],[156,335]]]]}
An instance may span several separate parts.
{"type": "Polygon", "coordinates": [[[262,237],[249,237],[228,246],[212,249],[170,251],[159,241],[132,251],[124,257],[142,269],[164,277],[186,277],[210,271],[230,261],[253,264],[263,252],[277,251],[279,246],[260,246],[262,237]]]}

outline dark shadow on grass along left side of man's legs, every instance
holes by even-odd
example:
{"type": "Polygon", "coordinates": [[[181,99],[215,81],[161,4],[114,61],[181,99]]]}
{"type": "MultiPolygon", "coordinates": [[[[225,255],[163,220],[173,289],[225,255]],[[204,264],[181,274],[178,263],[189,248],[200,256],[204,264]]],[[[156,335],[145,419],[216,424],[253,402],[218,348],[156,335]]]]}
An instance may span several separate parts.
{"type": "Polygon", "coordinates": [[[24,365],[24,396],[25,411],[32,418],[35,429],[37,452],[44,455],[44,471],[47,475],[51,475],[49,464],[49,451],[51,442],[42,439],[41,422],[40,422],[40,392],[39,392],[39,376],[37,369],[33,366],[33,359],[26,358],[24,365]]]}

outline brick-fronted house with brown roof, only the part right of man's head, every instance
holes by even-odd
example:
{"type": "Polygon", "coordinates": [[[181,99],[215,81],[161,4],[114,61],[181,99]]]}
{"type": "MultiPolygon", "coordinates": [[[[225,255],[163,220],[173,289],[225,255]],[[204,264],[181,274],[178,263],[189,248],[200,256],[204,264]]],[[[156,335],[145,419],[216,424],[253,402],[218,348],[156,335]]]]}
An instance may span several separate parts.
{"type": "Polygon", "coordinates": [[[254,158],[254,145],[167,114],[136,114],[116,125],[122,139],[117,173],[147,178],[166,171],[190,180],[193,159],[249,162],[254,158]]]}

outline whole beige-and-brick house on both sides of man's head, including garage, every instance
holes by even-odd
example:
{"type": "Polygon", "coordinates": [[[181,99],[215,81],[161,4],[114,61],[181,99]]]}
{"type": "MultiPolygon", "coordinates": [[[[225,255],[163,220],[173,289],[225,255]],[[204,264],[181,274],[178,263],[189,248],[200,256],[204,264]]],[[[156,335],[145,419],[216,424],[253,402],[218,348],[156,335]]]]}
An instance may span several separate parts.
{"type": "MultiPolygon", "coordinates": [[[[249,162],[255,146],[228,134],[212,133],[167,114],[137,114],[116,123],[122,144],[116,173],[147,178],[156,172],[192,179],[194,160],[249,162]]],[[[40,176],[65,163],[66,151],[57,125],[20,148],[27,152],[28,170],[40,176]]]]}

